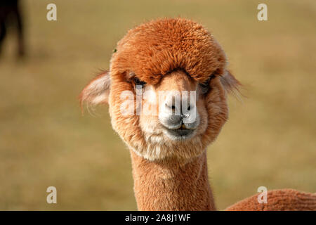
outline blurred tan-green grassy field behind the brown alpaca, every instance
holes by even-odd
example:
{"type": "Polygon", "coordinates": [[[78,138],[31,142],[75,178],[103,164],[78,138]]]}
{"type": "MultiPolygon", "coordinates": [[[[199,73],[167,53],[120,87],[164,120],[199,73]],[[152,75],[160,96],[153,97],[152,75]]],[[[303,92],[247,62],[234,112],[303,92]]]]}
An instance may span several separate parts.
{"type": "Polygon", "coordinates": [[[77,96],[108,69],[117,41],[154,18],[202,23],[244,84],[209,146],[219,210],[256,193],[316,191],[316,1],[21,1],[25,56],[8,30],[0,57],[0,210],[136,210],[129,150],[107,106],[81,115],[77,96]],[[47,4],[57,21],[46,20],[47,4]],[[46,188],[57,188],[57,204],[46,188]]]}

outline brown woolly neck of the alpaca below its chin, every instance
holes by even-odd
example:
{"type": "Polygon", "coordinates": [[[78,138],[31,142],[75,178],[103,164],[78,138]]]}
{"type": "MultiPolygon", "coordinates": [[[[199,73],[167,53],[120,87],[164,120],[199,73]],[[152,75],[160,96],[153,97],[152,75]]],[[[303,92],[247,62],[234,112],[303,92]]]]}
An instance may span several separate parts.
{"type": "Polygon", "coordinates": [[[138,210],[215,210],[206,152],[185,165],[131,159],[138,210]]]}

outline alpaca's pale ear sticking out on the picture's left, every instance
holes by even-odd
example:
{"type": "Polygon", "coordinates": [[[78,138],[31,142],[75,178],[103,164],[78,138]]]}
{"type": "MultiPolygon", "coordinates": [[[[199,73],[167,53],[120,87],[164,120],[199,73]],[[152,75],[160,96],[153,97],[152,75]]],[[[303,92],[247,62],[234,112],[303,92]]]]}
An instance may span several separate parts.
{"type": "Polygon", "coordinates": [[[110,94],[110,72],[104,71],[94,78],[85,88],[81,91],[79,100],[81,108],[84,103],[88,106],[99,105],[107,103],[110,94]]]}

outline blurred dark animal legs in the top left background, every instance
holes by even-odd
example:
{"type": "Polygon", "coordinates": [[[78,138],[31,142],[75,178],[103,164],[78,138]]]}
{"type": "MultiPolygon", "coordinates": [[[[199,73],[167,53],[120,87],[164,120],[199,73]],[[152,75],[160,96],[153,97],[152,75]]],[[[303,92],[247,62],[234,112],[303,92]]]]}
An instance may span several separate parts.
{"type": "Polygon", "coordinates": [[[18,34],[18,56],[25,55],[25,40],[23,35],[21,9],[18,0],[0,1],[0,53],[3,48],[8,27],[11,25],[17,30],[18,34]]]}

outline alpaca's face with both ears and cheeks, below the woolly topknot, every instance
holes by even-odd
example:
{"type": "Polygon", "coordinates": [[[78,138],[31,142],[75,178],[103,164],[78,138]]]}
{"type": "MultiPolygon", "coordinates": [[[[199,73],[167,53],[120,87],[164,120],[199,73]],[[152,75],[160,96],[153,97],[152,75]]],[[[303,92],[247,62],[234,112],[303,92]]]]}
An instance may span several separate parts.
{"type": "Polygon", "coordinates": [[[82,91],[81,101],[108,102],[113,128],[138,155],[183,162],[203,153],[216,139],[228,118],[226,93],[237,84],[229,72],[200,83],[183,70],[169,73],[154,85],[135,75],[114,80],[109,72],[98,75],[82,91]]]}

